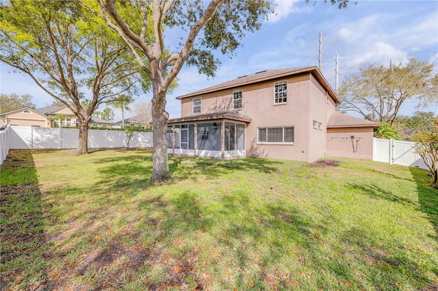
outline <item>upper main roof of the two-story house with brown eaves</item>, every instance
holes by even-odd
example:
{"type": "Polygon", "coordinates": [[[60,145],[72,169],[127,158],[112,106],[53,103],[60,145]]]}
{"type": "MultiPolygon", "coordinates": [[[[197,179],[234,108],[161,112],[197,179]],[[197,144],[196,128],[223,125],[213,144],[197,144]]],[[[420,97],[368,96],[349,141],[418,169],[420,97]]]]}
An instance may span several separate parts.
{"type": "Polygon", "coordinates": [[[196,92],[192,92],[189,94],[185,94],[182,96],[177,97],[177,99],[181,100],[183,98],[198,96],[201,94],[207,94],[211,92],[216,92],[224,89],[231,89],[234,87],[241,87],[243,85],[250,85],[254,83],[259,83],[263,81],[268,81],[272,79],[278,79],[283,77],[289,77],[296,74],[302,74],[302,73],[311,73],[313,74],[313,77],[317,79],[321,85],[324,87],[324,89],[327,90],[331,98],[335,100],[335,102],[339,103],[339,98],[337,98],[336,93],[333,91],[333,89],[330,87],[329,83],[326,81],[324,76],[322,76],[320,70],[316,66],[311,67],[300,67],[300,68],[285,68],[285,69],[276,69],[276,70],[263,70],[261,72],[256,72],[253,74],[247,74],[242,77],[237,77],[236,79],[232,79],[229,81],[226,81],[224,83],[220,83],[218,85],[214,85],[211,87],[207,87],[205,89],[198,90],[196,92]]]}

